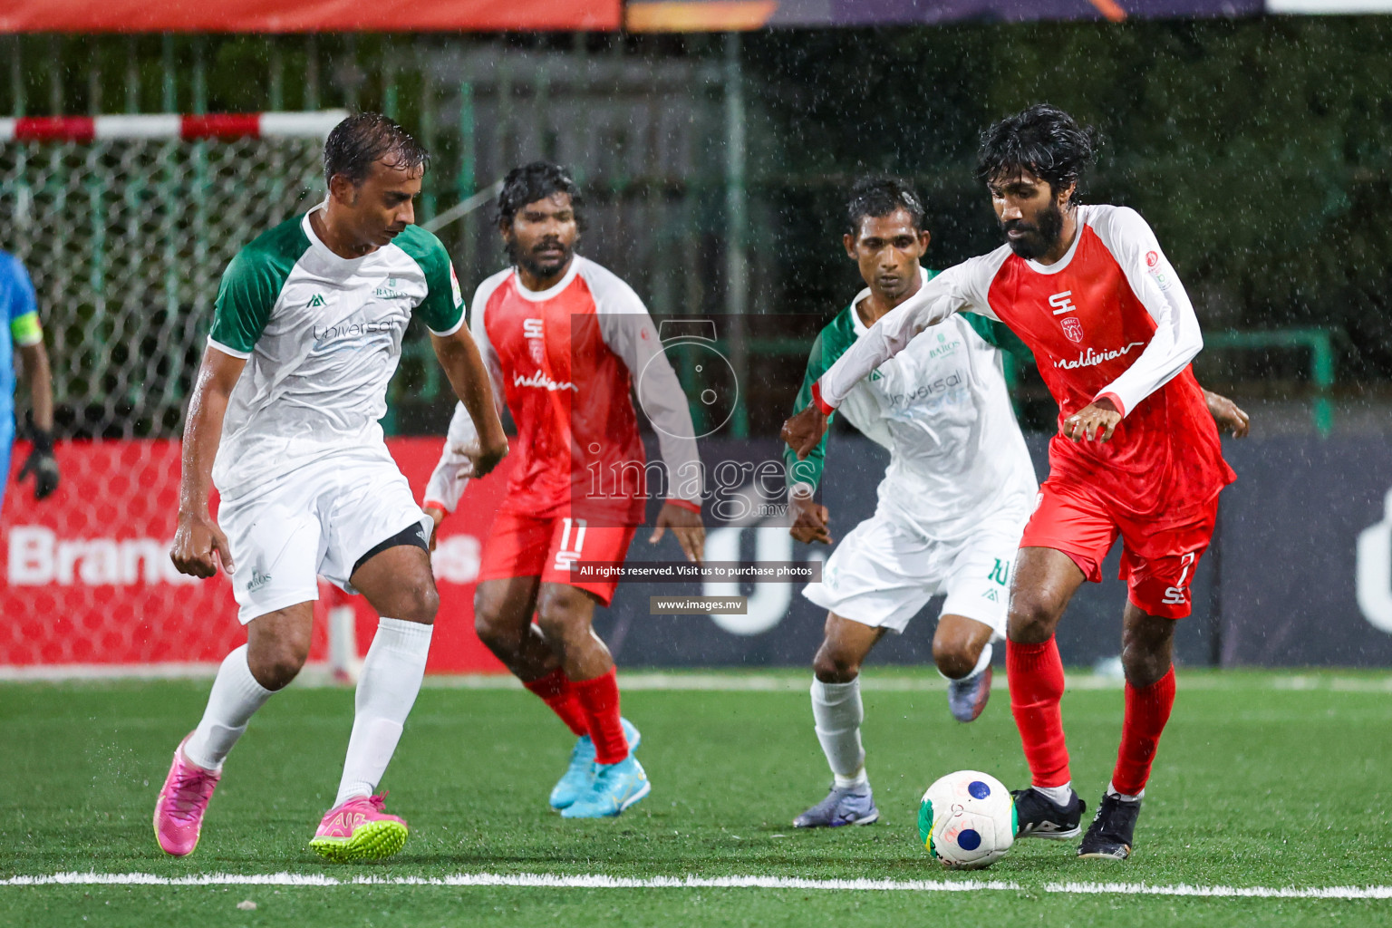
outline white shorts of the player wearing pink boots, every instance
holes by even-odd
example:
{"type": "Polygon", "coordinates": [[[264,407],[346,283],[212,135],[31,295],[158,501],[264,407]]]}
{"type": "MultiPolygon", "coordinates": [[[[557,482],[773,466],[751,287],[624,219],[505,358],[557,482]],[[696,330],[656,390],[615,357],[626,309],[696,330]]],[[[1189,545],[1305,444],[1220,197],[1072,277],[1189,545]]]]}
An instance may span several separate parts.
{"type": "Polygon", "coordinates": [[[319,598],[316,577],[348,593],[358,558],[391,536],[432,520],[411,494],[386,448],[334,454],[296,467],[235,499],[223,499],[217,523],[232,548],[237,618],[319,598]]]}

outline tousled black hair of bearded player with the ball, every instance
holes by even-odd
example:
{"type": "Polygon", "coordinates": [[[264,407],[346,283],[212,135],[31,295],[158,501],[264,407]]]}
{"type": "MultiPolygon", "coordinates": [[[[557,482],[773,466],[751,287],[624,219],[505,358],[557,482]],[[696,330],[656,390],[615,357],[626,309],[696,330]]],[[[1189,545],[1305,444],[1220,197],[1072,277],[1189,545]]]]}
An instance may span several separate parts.
{"type": "MultiPolygon", "coordinates": [[[[1097,154],[1097,131],[1057,106],[1036,103],[981,134],[974,177],[983,184],[1022,170],[1057,193],[1076,182],[1097,154]]],[[[1075,193],[1073,200],[1076,202],[1075,193]]]]}

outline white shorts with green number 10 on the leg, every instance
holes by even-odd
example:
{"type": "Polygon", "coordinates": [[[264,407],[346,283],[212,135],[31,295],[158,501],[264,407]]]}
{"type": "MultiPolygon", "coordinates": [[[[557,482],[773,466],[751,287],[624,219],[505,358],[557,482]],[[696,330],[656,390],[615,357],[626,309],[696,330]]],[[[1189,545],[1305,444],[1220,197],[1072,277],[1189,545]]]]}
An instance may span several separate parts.
{"type": "Polygon", "coordinates": [[[928,600],[947,594],[942,615],[962,615],[1005,637],[1011,570],[1025,518],[986,522],[958,544],[931,541],[876,515],[841,540],[821,583],[802,594],[837,615],[903,632],[928,600]]]}

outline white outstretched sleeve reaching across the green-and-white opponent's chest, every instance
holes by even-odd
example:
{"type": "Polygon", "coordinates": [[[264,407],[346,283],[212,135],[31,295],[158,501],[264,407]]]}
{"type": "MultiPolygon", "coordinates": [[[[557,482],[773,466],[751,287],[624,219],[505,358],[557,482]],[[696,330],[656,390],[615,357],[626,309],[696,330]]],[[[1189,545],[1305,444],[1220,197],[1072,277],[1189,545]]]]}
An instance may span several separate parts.
{"type": "Polygon", "coordinates": [[[986,302],[991,273],[990,255],[972,257],[947,269],[885,313],[817,380],[813,399],[818,408],[830,413],[862,377],[903,351],[924,328],[952,313],[972,309],[995,319],[986,302]]]}

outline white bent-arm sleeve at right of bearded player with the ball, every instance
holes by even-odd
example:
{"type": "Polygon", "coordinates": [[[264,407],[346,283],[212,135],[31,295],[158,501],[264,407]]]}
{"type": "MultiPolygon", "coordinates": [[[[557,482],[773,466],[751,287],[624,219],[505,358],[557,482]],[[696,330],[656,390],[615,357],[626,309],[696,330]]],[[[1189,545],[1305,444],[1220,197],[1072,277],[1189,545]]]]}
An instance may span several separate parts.
{"type": "Polygon", "coordinates": [[[1122,416],[1189,366],[1204,346],[1189,294],[1140,213],[1114,207],[1093,228],[1121,266],[1132,292],[1155,321],[1155,334],[1121,377],[1093,398],[1109,398],[1122,416]]]}

